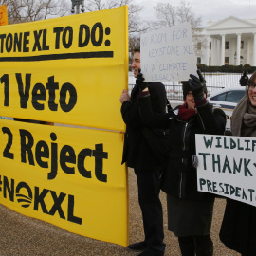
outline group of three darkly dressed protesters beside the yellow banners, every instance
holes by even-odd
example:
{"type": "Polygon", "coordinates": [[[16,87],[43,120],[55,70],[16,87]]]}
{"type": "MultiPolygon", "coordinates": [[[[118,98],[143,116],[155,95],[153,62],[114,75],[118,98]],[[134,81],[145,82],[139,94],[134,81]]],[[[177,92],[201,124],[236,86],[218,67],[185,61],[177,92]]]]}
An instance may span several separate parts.
{"type": "MultiPolygon", "coordinates": [[[[167,108],[164,85],[144,81],[139,48],[134,49],[131,67],[136,85],[131,95],[124,89],[120,96],[126,124],[122,163],[137,176],[145,238],[128,248],[139,251],[137,255],[172,253],[164,243],[162,190],[167,195],[168,230],[178,238],[180,254],[213,255],[210,228],[215,195],[197,191],[195,134],[226,135],[226,115],[207,100],[207,82],[200,70],[181,82],[184,103],[172,109],[167,108]]],[[[245,96],[233,112],[231,135],[256,137],[256,72],[250,78],[244,73],[240,84],[245,86],[245,96]]],[[[256,255],[255,207],[223,200],[227,204],[220,240],[230,254],[235,250],[243,256],[256,255]]]]}

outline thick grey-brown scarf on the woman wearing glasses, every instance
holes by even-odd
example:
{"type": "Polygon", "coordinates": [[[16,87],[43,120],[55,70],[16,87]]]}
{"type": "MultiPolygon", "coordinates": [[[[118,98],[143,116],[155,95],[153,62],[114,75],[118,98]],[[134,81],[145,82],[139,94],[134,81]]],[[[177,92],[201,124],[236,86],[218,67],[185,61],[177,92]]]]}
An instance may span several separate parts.
{"type": "Polygon", "coordinates": [[[236,105],[231,118],[233,136],[256,137],[256,107],[245,95],[236,105]]]}

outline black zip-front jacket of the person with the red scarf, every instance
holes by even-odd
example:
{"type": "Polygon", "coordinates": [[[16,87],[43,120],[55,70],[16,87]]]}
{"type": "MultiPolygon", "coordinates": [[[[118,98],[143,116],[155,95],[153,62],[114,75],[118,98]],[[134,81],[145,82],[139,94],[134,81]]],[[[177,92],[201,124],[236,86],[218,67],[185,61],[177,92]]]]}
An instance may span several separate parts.
{"type": "Polygon", "coordinates": [[[192,166],[195,155],[195,134],[223,135],[225,113],[212,111],[209,103],[197,108],[188,122],[178,118],[178,108],[168,114],[155,115],[151,111],[150,97],[139,98],[141,119],[149,127],[169,128],[170,152],[167,155],[167,172],[163,173],[161,189],[179,198],[202,199],[209,193],[197,192],[197,173],[192,166]]]}

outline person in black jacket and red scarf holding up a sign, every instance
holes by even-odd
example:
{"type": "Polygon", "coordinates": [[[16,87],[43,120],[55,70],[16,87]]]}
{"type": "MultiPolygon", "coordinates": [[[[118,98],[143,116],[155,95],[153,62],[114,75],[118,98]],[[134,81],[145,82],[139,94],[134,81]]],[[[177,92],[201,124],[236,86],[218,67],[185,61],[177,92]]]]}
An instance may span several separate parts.
{"type": "MultiPolygon", "coordinates": [[[[195,134],[223,135],[226,115],[207,101],[206,82],[191,75],[182,82],[184,104],[167,114],[154,114],[146,82],[138,97],[142,122],[148,127],[169,129],[170,151],[161,189],[167,193],[168,229],[178,237],[183,256],[211,256],[210,227],[214,196],[197,191],[195,134]]],[[[138,80],[138,78],[137,78],[138,80]]]]}

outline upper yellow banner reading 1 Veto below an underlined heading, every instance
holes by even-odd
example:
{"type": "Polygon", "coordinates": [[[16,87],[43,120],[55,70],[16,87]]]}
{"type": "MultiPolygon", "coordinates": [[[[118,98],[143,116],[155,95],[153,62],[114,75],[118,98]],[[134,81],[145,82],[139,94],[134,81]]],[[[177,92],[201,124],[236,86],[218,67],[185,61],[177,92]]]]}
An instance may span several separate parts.
{"type": "Polygon", "coordinates": [[[0,27],[0,116],[124,131],[128,8],[0,27]]]}

